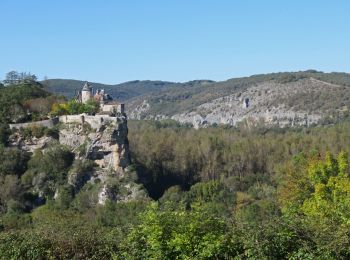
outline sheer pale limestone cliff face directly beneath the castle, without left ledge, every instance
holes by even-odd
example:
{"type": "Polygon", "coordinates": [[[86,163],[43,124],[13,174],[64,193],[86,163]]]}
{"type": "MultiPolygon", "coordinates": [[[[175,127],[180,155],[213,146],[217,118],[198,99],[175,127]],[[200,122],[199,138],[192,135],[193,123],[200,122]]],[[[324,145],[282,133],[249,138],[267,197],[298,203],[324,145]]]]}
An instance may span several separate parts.
{"type": "Polygon", "coordinates": [[[98,167],[91,172],[71,172],[68,183],[77,192],[86,182],[97,181],[101,189],[97,203],[118,200],[117,190],[111,183],[118,183],[124,177],[130,164],[128,125],[125,116],[113,121],[101,121],[97,125],[88,123],[65,123],[62,125],[59,142],[71,147],[79,160],[94,161],[98,167]]]}

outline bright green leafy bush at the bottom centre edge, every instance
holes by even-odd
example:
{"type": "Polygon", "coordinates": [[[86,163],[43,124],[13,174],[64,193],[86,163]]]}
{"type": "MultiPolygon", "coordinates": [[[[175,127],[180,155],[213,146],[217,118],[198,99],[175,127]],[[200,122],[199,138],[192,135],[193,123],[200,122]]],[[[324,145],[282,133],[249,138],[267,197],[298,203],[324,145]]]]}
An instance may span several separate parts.
{"type": "Polygon", "coordinates": [[[162,211],[152,204],[141,221],[125,241],[123,255],[127,258],[225,258],[237,246],[225,235],[225,221],[203,207],[162,211]]]}

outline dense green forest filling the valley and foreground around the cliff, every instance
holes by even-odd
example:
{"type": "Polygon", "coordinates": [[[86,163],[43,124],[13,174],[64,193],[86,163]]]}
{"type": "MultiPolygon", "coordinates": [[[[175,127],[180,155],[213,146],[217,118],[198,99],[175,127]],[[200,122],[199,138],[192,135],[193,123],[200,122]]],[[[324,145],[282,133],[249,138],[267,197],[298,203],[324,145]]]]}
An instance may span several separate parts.
{"type": "Polygon", "coordinates": [[[349,122],[194,130],[131,121],[129,130],[137,176],[128,177],[152,199],[94,205],[86,185],[33,206],[36,172],[50,194],[70,168],[89,166],[60,146],[32,158],[1,148],[1,257],[349,258],[349,122]]]}

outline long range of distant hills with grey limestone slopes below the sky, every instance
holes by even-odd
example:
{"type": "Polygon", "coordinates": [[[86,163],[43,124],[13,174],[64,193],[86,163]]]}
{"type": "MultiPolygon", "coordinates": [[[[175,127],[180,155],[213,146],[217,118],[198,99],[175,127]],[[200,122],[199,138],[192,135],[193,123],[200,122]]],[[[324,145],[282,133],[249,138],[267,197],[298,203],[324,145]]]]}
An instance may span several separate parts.
{"type": "MultiPolygon", "coordinates": [[[[82,81],[48,80],[48,89],[67,97],[82,81]]],[[[131,81],[118,85],[92,83],[126,101],[134,119],[174,119],[194,126],[235,125],[242,121],[310,125],[347,117],[350,74],[315,70],[253,75],[214,82],[131,81]],[[249,99],[248,107],[243,100],[249,99]]]]}

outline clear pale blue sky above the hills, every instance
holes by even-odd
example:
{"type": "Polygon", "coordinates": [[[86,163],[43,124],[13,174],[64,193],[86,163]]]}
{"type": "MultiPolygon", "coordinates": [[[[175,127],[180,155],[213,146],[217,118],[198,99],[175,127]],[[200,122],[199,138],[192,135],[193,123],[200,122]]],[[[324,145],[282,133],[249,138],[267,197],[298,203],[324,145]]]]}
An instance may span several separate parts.
{"type": "Polygon", "coordinates": [[[349,28],[348,0],[1,0],[0,78],[350,72],[349,28]]]}

